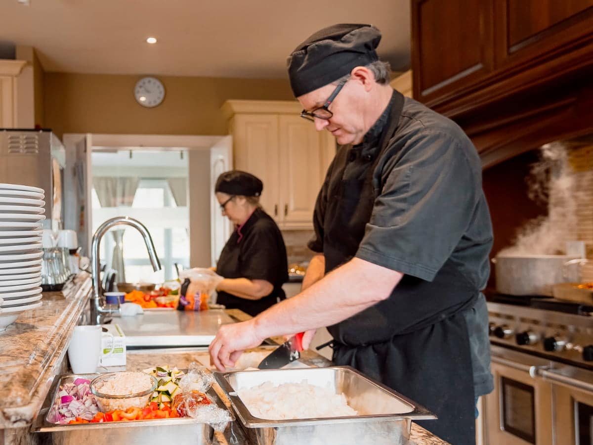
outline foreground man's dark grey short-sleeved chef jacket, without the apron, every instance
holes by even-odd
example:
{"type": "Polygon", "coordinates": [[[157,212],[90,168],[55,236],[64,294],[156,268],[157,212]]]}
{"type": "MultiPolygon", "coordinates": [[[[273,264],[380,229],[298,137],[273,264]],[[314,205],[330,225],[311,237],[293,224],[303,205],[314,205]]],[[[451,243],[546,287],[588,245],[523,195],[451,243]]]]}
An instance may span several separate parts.
{"type": "MultiPolygon", "coordinates": [[[[349,182],[375,165],[372,212],[352,255],[425,281],[449,262],[479,292],[490,271],[492,225],[476,149],[454,122],[406,98],[397,131],[374,164],[388,111],[362,144],[339,148],[317,198],[310,249],[324,252],[324,225],[334,217],[326,212],[332,197],[340,187],[347,193],[349,182]]],[[[396,287],[392,297],[397,292],[396,287]]],[[[492,390],[492,376],[483,295],[464,316],[472,333],[476,394],[484,394],[492,390]]]]}

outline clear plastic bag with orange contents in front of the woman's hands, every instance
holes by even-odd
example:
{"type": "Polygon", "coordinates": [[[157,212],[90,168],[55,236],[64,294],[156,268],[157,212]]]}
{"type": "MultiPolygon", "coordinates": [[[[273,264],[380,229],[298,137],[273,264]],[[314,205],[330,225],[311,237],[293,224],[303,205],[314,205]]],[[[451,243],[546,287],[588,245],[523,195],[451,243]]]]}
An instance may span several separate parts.
{"type": "Polygon", "coordinates": [[[182,281],[179,310],[206,310],[216,286],[224,279],[211,269],[193,268],[179,272],[182,281]]]}

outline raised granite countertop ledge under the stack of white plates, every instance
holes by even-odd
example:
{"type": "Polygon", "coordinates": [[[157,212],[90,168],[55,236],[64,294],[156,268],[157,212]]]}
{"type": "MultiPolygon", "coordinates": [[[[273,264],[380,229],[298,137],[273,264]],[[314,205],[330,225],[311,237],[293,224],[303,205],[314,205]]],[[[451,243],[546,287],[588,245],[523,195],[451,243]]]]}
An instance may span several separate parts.
{"type": "Polygon", "coordinates": [[[53,377],[62,372],[68,342],[91,291],[91,276],[76,275],[60,292],[44,292],[42,306],[0,332],[0,429],[28,425],[53,377]]]}

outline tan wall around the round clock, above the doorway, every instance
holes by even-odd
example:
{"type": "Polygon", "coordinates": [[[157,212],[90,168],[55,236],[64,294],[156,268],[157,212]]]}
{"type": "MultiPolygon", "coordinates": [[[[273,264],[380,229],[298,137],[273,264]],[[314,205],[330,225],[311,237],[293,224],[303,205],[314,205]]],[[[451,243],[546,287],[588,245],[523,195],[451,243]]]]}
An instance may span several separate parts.
{"type": "Polygon", "coordinates": [[[228,99],[293,99],[288,80],[158,76],[165,100],[136,103],[138,75],[44,74],[44,125],[64,133],[224,135],[228,99]]]}

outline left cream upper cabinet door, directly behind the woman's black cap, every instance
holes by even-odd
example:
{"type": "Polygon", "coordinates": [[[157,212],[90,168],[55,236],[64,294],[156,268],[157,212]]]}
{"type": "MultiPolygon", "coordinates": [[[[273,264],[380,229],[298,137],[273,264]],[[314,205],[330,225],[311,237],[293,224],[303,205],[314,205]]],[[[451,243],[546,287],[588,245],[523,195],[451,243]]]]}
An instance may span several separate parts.
{"type": "Polygon", "coordinates": [[[263,209],[277,221],[279,211],[278,115],[235,115],[232,122],[235,169],[263,182],[263,209]]]}

